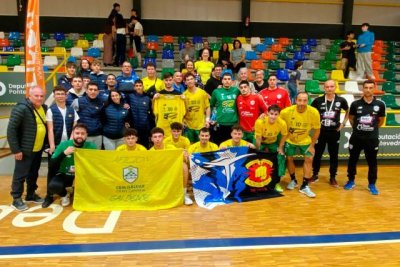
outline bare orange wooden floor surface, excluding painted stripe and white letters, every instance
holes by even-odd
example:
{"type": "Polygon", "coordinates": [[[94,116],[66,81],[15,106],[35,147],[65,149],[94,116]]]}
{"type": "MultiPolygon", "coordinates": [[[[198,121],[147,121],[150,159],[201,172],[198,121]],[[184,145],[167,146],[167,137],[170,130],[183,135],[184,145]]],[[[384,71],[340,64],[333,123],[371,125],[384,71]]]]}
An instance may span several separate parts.
{"type": "MultiPolygon", "coordinates": [[[[1,219],[0,246],[140,242],[240,237],[282,237],[400,231],[400,167],[381,166],[377,186],[380,195],[367,190],[367,168],[358,168],[352,191],[327,183],[327,168],[312,185],[317,194],[309,199],[296,191],[284,197],[231,204],[206,210],[179,207],[161,211],[123,211],[111,234],[71,234],[63,222],[72,208],[55,219],[34,227],[15,227],[16,211],[1,219]],[[324,175],[325,174],[325,175],[324,175]]],[[[298,173],[300,175],[300,170],[298,173]]],[[[0,205],[9,205],[10,177],[0,177],[0,205]]],[[[346,181],[339,167],[338,181],[346,181]]],[[[283,179],[286,185],[288,177],[283,179]]],[[[40,178],[39,192],[45,191],[40,178]]],[[[58,203],[58,200],[57,200],[58,203]]],[[[39,209],[35,212],[43,212],[39,209]]],[[[108,212],[83,213],[79,227],[103,226],[108,212]]],[[[26,219],[26,221],[34,219],[26,219]]],[[[0,266],[400,266],[400,243],[345,246],[288,247],[131,255],[66,256],[1,259],[0,266]]],[[[1,256],[1,255],[0,255],[1,256]]]]}

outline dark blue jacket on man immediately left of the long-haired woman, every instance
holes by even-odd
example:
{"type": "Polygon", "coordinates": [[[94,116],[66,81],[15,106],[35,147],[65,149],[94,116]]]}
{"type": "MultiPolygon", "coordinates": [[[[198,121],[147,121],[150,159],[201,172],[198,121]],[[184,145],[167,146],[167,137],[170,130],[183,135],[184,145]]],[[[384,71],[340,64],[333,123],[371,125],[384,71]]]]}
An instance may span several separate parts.
{"type": "Polygon", "coordinates": [[[88,96],[78,98],[79,122],[88,127],[88,136],[101,135],[103,126],[101,124],[101,110],[104,102],[100,97],[90,99],[88,96]]]}

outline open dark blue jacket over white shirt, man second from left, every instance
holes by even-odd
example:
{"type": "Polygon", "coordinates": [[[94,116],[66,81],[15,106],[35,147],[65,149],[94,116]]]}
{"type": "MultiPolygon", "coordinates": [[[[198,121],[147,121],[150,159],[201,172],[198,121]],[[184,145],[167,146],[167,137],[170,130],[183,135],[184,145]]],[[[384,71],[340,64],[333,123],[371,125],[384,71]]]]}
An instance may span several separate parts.
{"type": "MultiPolygon", "coordinates": [[[[50,106],[51,113],[53,114],[53,133],[54,133],[54,144],[57,146],[61,142],[62,133],[64,130],[64,118],[58,109],[56,104],[50,106]]],[[[75,111],[72,107],[66,107],[67,112],[65,114],[65,126],[67,127],[68,138],[71,136],[72,127],[75,121],[75,111]]]]}

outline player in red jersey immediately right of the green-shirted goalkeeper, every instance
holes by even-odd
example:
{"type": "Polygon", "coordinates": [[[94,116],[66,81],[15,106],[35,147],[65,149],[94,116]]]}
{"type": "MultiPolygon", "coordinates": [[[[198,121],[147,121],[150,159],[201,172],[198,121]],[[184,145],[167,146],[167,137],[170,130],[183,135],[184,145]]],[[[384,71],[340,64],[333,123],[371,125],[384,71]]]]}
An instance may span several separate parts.
{"type": "Polygon", "coordinates": [[[254,141],[254,124],[258,117],[267,111],[267,105],[259,94],[252,94],[248,81],[239,83],[240,95],[236,98],[239,124],[243,128],[243,139],[254,141]]]}

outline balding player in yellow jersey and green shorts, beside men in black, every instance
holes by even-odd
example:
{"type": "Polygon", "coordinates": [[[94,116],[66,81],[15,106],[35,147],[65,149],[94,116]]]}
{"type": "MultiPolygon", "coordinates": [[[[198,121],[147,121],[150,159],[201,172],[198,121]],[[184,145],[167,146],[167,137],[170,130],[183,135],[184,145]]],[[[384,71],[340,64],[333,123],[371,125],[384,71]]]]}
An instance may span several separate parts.
{"type": "Polygon", "coordinates": [[[288,127],[285,154],[287,156],[287,169],[291,181],[287,189],[293,190],[297,187],[294,155],[299,150],[300,154],[304,156],[303,184],[299,192],[313,198],[315,194],[311,191],[308,183],[311,181],[312,161],[315,153],[314,146],[318,140],[321,122],[318,110],[307,103],[308,94],[306,92],[298,93],[296,96],[296,105],[282,110],[281,118],[286,122],[288,127]],[[309,135],[311,132],[312,136],[309,135]]]}

